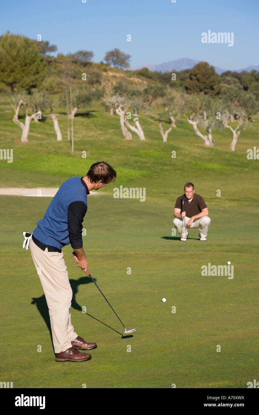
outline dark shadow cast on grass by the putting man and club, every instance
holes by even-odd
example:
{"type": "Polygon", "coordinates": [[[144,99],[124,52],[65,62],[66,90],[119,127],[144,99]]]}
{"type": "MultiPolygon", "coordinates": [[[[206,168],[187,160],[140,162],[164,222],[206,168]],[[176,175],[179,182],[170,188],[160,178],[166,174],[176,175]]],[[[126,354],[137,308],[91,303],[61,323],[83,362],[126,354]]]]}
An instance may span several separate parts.
{"type": "MultiPolygon", "coordinates": [[[[81,284],[93,283],[93,281],[90,277],[81,277],[78,280],[71,279],[71,280],[69,280],[69,282],[70,282],[72,292],[73,292],[72,300],[71,300],[71,307],[74,308],[75,310],[82,311],[82,307],[76,302],[76,294],[78,293],[78,286],[80,286],[81,284]]],[[[49,308],[48,308],[48,305],[46,303],[45,295],[42,294],[41,297],[37,297],[37,298],[32,297],[31,304],[36,304],[39,313],[42,315],[42,318],[45,321],[46,326],[48,327],[51,342],[52,342],[52,347],[53,347],[53,350],[54,350],[52,335],[51,335],[51,325],[50,325],[50,320],[49,320],[49,308]]],[[[100,323],[102,323],[106,327],[109,327],[111,330],[115,331],[116,333],[120,334],[122,336],[122,339],[125,339],[127,337],[133,337],[132,335],[131,336],[123,336],[122,333],[117,332],[117,330],[113,329],[112,327],[108,326],[107,324],[103,323],[102,321],[98,320],[97,318],[93,317],[92,315],[90,315],[88,313],[86,313],[86,314],[89,315],[89,317],[92,317],[95,320],[99,321],[100,323]]]]}

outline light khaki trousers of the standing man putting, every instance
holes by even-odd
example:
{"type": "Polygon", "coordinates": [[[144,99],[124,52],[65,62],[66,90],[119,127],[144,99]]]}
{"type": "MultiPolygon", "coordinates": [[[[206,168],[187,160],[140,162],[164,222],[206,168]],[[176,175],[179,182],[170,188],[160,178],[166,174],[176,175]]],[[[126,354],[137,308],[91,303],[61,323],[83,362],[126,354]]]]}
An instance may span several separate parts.
{"type": "Polygon", "coordinates": [[[72,347],[71,341],[77,337],[71,324],[70,306],[73,292],[64,255],[61,252],[49,252],[48,248],[42,251],[32,239],[29,248],[49,308],[54,352],[64,352],[72,347]]]}

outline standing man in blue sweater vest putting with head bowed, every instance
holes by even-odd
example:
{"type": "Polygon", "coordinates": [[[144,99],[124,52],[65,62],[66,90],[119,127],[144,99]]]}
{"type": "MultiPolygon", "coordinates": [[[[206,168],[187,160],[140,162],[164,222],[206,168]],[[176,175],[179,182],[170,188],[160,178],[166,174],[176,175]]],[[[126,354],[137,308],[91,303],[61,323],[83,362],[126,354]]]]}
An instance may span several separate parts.
{"type": "Polygon", "coordinates": [[[96,343],[86,342],[71,324],[72,289],[61,251],[71,244],[77,265],[87,271],[88,262],[83,251],[83,218],[87,211],[87,195],[116,180],[116,171],[104,161],[94,163],[86,176],[71,177],[57,191],[42,220],[32,232],[29,248],[39,274],[49,308],[52,340],[56,361],[90,360],[89,353],[96,343]]]}

